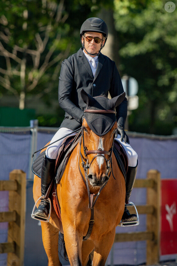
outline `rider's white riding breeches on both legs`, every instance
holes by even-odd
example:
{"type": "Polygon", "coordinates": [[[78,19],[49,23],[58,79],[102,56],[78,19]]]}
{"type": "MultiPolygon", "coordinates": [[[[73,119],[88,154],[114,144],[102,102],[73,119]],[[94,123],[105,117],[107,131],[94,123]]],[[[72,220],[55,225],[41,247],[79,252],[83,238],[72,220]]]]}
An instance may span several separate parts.
{"type": "MultiPolygon", "coordinates": [[[[68,129],[66,127],[61,127],[56,132],[56,134],[53,136],[50,143],[56,141],[57,139],[64,137],[65,135],[69,134],[70,132],[72,132],[71,129],[68,129]]],[[[75,135],[75,134],[76,133],[74,132],[70,135],[75,135]]],[[[118,134],[116,139],[122,144],[122,146],[124,146],[124,149],[125,149],[127,156],[128,156],[128,166],[135,167],[137,164],[137,158],[138,158],[137,153],[132,149],[130,144],[125,143],[124,140],[123,140],[123,142],[121,142],[121,135],[118,134]]],[[[46,156],[50,159],[56,159],[56,157],[58,155],[58,150],[59,150],[62,142],[63,142],[63,139],[61,139],[61,140],[55,142],[54,144],[52,144],[51,146],[49,146],[45,152],[46,156]]]]}

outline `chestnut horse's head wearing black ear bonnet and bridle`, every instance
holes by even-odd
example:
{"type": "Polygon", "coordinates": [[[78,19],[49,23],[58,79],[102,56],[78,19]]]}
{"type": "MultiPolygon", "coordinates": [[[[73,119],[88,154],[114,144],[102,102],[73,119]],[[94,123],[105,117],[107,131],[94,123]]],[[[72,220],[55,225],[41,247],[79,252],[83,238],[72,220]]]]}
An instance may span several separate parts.
{"type": "Polygon", "coordinates": [[[82,143],[87,178],[92,188],[103,187],[109,180],[114,138],[117,135],[115,107],[125,98],[125,92],[108,99],[92,97],[83,89],[81,97],[87,104],[82,123],[82,143]]]}

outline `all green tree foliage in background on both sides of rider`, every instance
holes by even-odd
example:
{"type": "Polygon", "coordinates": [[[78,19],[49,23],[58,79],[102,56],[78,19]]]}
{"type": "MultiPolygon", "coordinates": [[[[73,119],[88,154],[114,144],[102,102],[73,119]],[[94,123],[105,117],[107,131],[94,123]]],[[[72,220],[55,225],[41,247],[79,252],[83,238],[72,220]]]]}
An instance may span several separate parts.
{"type": "MultiPolygon", "coordinates": [[[[177,8],[168,13],[165,3],[164,0],[2,0],[0,97],[14,95],[20,109],[25,108],[30,97],[51,106],[58,98],[61,62],[81,46],[81,24],[86,18],[97,16],[102,7],[114,8],[118,68],[121,76],[127,74],[139,83],[139,108],[129,116],[129,129],[171,134],[177,126],[177,8]]],[[[58,126],[63,113],[60,118],[59,107],[55,112],[55,116],[50,112],[45,117],[38,114],[39,124],[58,126]]]]}

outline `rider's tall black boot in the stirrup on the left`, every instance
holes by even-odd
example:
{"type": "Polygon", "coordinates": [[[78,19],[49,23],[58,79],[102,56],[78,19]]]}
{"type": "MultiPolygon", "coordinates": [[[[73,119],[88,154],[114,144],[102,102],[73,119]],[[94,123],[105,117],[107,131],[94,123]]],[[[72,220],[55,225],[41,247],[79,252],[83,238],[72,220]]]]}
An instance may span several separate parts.
{"type": "MultiPolygon", "coordinates": [[[[55,176],[55,162],[56,159],[50,159],[44,155],[44,159],[41,167],[41,195],[45,196],[52,179],[55,176]]],[[[48,217],[50,210],[50,204],[46,200],[42,200],[38,206],[38,209],[34,212],[42,217],[48,217]]]]}

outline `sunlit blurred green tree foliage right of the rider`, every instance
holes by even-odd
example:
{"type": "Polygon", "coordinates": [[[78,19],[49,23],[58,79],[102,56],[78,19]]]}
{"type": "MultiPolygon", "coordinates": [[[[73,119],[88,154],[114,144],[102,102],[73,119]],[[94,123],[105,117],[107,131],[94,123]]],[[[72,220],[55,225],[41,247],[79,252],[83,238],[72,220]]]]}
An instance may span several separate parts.
{"type": "Polygon", "coordinates": [[[170,135],[177,125],[177,12],[165,11],[165,3],[114,0],[119,68],[139,83],[132,131],[170,135]]]}

